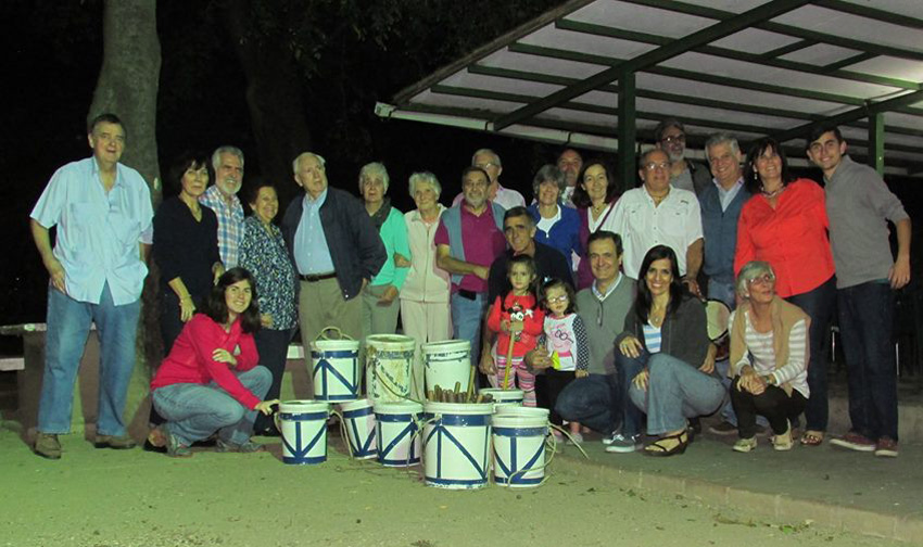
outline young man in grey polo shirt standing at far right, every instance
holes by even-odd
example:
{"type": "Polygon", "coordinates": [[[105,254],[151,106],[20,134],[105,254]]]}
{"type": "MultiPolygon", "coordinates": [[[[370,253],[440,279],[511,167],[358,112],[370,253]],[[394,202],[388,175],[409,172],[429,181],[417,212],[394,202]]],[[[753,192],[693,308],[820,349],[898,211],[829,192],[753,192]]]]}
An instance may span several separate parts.
{"type": "Polygon", "coordinates": [[[823,170],[836,307],[846,354],[851,430],[831,444],[896,457],[897,367],[892,343],[894,291],[910,281],[910,217],[871,167],[846,155],[833,125],[814,127],[808,157],[823,170]],[[897,259],[888,227],[897,233],[897,259]]]}

